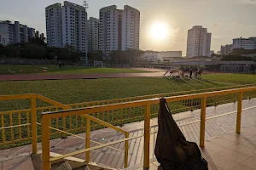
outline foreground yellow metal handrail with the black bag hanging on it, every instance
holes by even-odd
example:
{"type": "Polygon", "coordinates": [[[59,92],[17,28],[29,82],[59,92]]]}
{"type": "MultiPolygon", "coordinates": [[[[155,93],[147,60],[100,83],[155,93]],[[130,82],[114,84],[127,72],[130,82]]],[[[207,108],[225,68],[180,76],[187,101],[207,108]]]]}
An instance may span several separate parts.
{"type": "MultiPolygon", "coordinates": [[[[236,88],[236,89],[229,89],[229,90],[222,90],[222,91],[215,91],[215,92],[208,92],[208,93],[201,93],[201,94],[172,96],[172,97],[167,97],[166,102],[175,102],[175,101],[180,101],[185,99],[201,99],[200,145],[203,147],[205,144],[205,126],[206,126],[205,123],[206,123],[206,120],[209,119],[206,117],[207,97],[219,96],[224,94],[238,94],[236,133],[240,133],[242,93],[248,92],[248,91],[254,91],[254,90],[256,90],[256,86],[250,87],[250,88],[236,88]]],[[[49,111],[49,112],[43,113],[42,114],[42,146],[43,146],[42,153],[43,153],[44,169],[46,170],[49,169],[50,161],[56,161],[58,159],[65,158],[67,156],[77,155],[79,153],[84,153],[84,152],[88,153],[90,150],[96,150],[102,147],[106,147],[108,145],[118,144],[120,142],[125,142],[131,139],[138,138],[138,137],[132,137],[132,138],[121,139],[119,141],[103,144],[101,146],[95,146],[90,149],[86,148],[84,150],[75,151],[67,155],[58,156],[55,158],[49,158],[49,131],[47,130],[48,129],[47,127],[49,127],[49,120],[51,118],[59,118],[61,116],[74,116],[74,115],[82,116],[82,115],[88,115],[93,112],[120,110],[127,107],[136,107],[136,106],[143,106],[146,108],[146,111],[144,113],[144,134],[141,136],[144,136],[144,168],[147,169],[149,167],[150,105],[155,105],[158,103],[159,103],[159,99],[144,99],[139,101],[125,102],[125,103],[113,104],[113,105],[97,105],[97,106],[91,106],[91,107],[73,109],[73,110],[67,110],[67,111],[49,111]]]]}

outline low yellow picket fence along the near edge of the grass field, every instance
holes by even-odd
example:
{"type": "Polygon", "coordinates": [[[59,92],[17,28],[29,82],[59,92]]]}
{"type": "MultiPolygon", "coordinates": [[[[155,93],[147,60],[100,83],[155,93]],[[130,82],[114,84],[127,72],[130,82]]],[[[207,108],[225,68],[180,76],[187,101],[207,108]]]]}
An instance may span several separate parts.
{"type": "MultiPolygon", "coordinates": [[[[155,95],[145,95],[139,97],[131,97],[131,98],[123,98],[123,99],[109,99],[102,101],[94,101],[94,102],[84,102],[79,104],[70,104],[66,105],[72,109],[79,109],[84,107],[96,106],[96,105],[112,105],[117,103],[125,103],[132,102],[142,99],[154,99],[160,97],[172,97],[183,94],[195,94],[195,93],[203,93],[210,91],[218,91],[225,90],[229,88],[246,88],[255,86],[255,84],[251,85],[242,85],[236,87],[225,87],[225,88],[210,88],[210,89],[201,89],[201,90],[192,90],[187,92],[178,92],[178,93],[169,93],[169,94],[155,94],[155,95]]],[[[251,99],[256,96],[256,92],[245,92],[243,94],[243,99],[251,99]]],[[[9,95],[9,96],[0,96],[0,101],[6,100],[28,100],[29,105],[27,106],[29,109],[16,110],[16,111],[0,111],[0,148],[9,148],[11,146],[16,146],[20,144],[29,144],[32,141],[40,141],[41,140],[41,127],[35,122],[41,122],[41,115],[46,111],[61,111],[63,110],[63,105],[55,100],[45,98],[39,94],[23,94],[23,95],[9,95]],[[47,103],[49,106],[40,106],[38,104],[47,103]],[[32,139],[32,133],[36,133],[37,138],[32,139]],[[10,145],[11,144],[11,145],[10,145]]],[[[211,96],[207,98],[207,106],[210,105],[219,105],[223,103],[236,102],[237,94],[225,94],[222,96],[211,96]]],[[[150,108],[151,115],[150,117],[157,116],[158,105],[152,105],[150,108]]],[[[182,111],[193,111],[195,109],[201,108],[201,100],[200,99],[186,99],[180,100],[176,102],[172,102],[170,105],[170,109],[172,113],[182,112],[182,111]]],[[[143,111],[145,109],[143,107],[131,107],[126,108],[122,111],[106,111],[106,112],[95,112],[90,113],[90,116],[101,120],[102,122],[108,122],[114,126],[119,125],[122,126],[128,122],[137,122],[144,119],[143,111]]],[[[65,120],[63,119],[53,119],[50,123],[50,138],[59,138],[65,137],[68,133],[84,133],[86,129],[86,118],[83,116],[67,116],[65,120]],[[63,133],[60,129],[64,132],[63,133]]],[[[98,122],[92,122],[90,126],[90,130],[95,130],[105,127],[98,122]]],[[[34,135],[35,136],[35,135],[34,135]]]]}

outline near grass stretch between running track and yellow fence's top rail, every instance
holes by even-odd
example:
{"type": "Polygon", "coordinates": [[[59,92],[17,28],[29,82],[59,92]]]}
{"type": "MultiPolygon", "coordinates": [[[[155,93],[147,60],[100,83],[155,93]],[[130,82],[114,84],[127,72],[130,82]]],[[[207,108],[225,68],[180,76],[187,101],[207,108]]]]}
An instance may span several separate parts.
{"type": "MultiPolygon", "coordinates": [[[[163,77],[125,77],[85,80],[0,82],[0,95],[41,94],[63,104],[118,99],[148,94],[165,94],[206,88],[256,83],[256,75],[209,74],[202,79],[176,80],[163,77]]],[[[24,109],[27,103],[3,102],[2,111],[24,109]]]]}

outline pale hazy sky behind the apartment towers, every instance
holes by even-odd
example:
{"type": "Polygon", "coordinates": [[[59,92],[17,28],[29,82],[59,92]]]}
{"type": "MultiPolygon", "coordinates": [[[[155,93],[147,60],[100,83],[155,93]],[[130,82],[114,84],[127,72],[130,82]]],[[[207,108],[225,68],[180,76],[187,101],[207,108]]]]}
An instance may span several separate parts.
{"type": "MultiPolygon", "coordinates": [[[[45,7],[63,0],[0,0],[0,20],[20,21],[45,33],[45,7]]],[[[69,0],[82,5],[83,0],[69,0]]],[[[256,37],[256,0],[87,0],[88,17],[99,18],[99,9],[109,5],[130,5],[141,12],[140,48],[143,50],[182,50],[186,54],[187,33],[192,26],[212,32],[211,49],[236,37],[256,37]],[[164,23],[167,34],[155,39],[154,23],[164,23]]]]}

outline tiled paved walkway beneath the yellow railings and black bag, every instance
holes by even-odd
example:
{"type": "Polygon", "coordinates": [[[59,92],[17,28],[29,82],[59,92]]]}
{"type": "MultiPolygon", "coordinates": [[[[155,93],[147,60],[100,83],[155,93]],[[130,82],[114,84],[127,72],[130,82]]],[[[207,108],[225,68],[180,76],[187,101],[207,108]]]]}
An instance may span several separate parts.
{"type": "MultiPolygon", "coordinates": [[[[236,113],[207,120],[206,148],[202,152],[210,163],[210,169],[226,170],[233,168],[232,170],[256,170],[256,99],[244,100],[243,109],[241,116],[241,135],[235,133],[236,113]]],[[[207,107],[207,117],[232,111],[236,112],[236,104],[234,103],[218,105],[217,107],[207,107]]],[[[198,120],[200,118],[200,110],[183,112],[173,117],[186,139],[199,143],[200,123],[197,122],[186,126],[183,126],[183,124],[198,120]]],[[[122,128],[129,131],[131,137],[137,136],[143,133],[143,122],[126,124],[122,128]]],[[[151,132],[155,132],[157,128],[157,118],[154,118],[151,120],[151,132]]],[[[150,158],[153,160],[155,159],[154,143],[156,134],[154,133],[150,137],[150,158]]],[[[84,133],[79,134],[79,136],[85,137],[84,133]]],[[[91,139],[105,144],[113,140],[124,139],[124,135],[106,128],[91,132],[91,139]]],[[[95,146],[98,144],[91,142],[90,145],[95,146]]],[[[125,144],[114,144],[112,147],[124,150],[125,144]]],[[[84,139],[70,136],[67,139],[54,139],[50,141],[50,151],[58,154],[66,154],[80,149],[84,149],[84,139]]],[[[32,166],[29,156],[31,150],[31,144],[14,149],[1,150],[0,170],[28,169],[28,166],[32,166]]],[[[41,150],[41,144],[38,144],[38,150],[41,150]]],[[[75,157],[84,159],[85,154],[79,154],[75,157]]],[[[90,160],[110,167],[123,168],[124,152],[111,148],[93,150],[91,151],[90,160]]],[[[142,162],[143,138],[132,139],[129,142],[129,167],[142,162]]],[[[153,166],[156,167],[155,165],[153,166]]],[[[154,169],[154,167],[150,169],[154,169]]]]}

